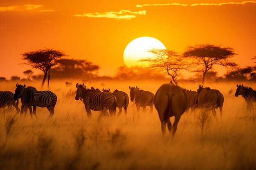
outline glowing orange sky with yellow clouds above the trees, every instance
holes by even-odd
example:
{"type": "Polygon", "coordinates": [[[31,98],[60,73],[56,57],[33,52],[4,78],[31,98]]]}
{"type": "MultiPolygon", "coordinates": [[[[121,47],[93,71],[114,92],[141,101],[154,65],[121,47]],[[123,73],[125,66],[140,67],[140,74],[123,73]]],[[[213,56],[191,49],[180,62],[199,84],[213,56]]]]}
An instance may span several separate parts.
{"type": "Polygon", "coordinates": [[[1,0],[0,77],[24,77],[29,67],[18,65],[20,53],[44,47],[88,59],[101,66],[100,75],[114,75],[124,65],[126,45],[142,36],[177,52],[201,43],[230,46],[240,66],[250,65],[256,55],[256,1],[1,0]]]}

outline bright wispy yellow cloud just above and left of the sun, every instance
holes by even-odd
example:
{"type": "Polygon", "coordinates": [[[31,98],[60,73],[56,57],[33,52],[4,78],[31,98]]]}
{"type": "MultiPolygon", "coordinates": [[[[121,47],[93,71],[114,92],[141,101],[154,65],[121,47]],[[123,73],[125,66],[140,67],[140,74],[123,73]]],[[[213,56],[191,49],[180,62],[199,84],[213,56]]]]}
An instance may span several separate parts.
{"type": "Polygon", "coordinates": [[[121,10],[119,12],[104,12],[104,13],[83,13],[83,14],[76,14],[73,15],[75,17],[88,17],[88,18],[114,18],[114,19],[124,19],[124,20],[130,20],[132,18],[136,18],[138,15],[146,15],[146,11],[138,11],[138,12],[132,12],[129,10],[121,10]]]}

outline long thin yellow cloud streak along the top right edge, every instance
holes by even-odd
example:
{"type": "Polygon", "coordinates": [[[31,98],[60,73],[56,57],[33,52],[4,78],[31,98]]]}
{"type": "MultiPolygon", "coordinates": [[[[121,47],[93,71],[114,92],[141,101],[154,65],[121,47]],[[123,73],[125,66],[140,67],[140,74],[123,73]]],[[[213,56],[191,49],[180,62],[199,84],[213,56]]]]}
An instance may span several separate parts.
{"type": "Polygon", "coordinates": [[[200,3],[200,4],[179,4],[179,3],[171,3],[171,4],[142,4],[142,5],[136,5],[136,7],[147,7],[147,6],[191,6],[191,7],[195,7],[195,6],[222,6],[222,5],[228,5],[228,4],[236,4],[236,5],[239,5],[239,4],[247,4],[247,3],[254,3],[256,4],[256,1],[252,1],[252,0],[249,0],[249,1],[243,1],[243,2],[222,2],[222,3],[219,3],[219,4],[216,4],[216,3],[200,3]]]}

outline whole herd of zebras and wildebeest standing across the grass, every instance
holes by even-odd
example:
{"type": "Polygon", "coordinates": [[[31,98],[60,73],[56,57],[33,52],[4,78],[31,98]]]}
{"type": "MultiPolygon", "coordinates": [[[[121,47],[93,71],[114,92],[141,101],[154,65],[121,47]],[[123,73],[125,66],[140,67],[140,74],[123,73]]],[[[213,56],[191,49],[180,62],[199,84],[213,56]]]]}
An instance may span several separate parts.
{"type": "MultiPolygon", "coordinates": [[[[235,96],[242,95],[247,102],[247,109],[252,108],[252,102],[256,102],[256,91],[250,87],[246,87],[238,84],[236,85],[235,96]]],[[[125,115],[127,114],[127,108],[129,104],[129,97],[123,91],[117,89],[110,93],[110,89],[102,89],[91,87],[90,89],[85,84],[76,84],[76,100],[83,101],[85,110],[88,117],[92,116],[91,110],[101,111],[99,118],[107,116],[109,110],[110,116],[115,116],[116,108],[119,108],[117,115],[120,115],[122,108],[124,108],[125,115]]],[[[213,115],[216,116],[216,108],[220,109],[220,115],[222,115],[222,107],[224,103],[224,96],[220,91],[198,86],[197,91],[186,90],[180,86],[172,83],[163,84],[154,95],[150,91],[144,91],[139,89],[137,86],[130,87],[130,100],[135,102],[135,106],[139,111],[142,107],[143,110],[146,106],[150,107],[150,112],[153,111],[153,105],[158,112],[159,119],[161,121],[162,134],[165,134],[166,124],[168,130],[175,135],[177,130],[177,124],[180,120],[181,115],[191,108],[191,111],[195,108],[208,108],[212,111],[213,115]],[[170,117],[175,117],[173,126],[170,121],[170,117]]],[[[16,90],[13,94],[9,91],[0,91],[0,108],[8,106],[8,110],[11,107],[16,108],[16,114],[20,114],[29,110],[30,115],[36,116],[36,107],[46,107],[49,110],[49,117],[54,115],[54,107],[57,102],[57,96],[51,91],[37,91],[36,88],[28,86],[26,84],[16,84],[16,90]],[[18,99],[21,99],[21,109],[18,108],[18,99]],[[17,101],[17,102],[16,102],[17,101]],[[33,111],[32,111],[33,107],[33,111]]]]}

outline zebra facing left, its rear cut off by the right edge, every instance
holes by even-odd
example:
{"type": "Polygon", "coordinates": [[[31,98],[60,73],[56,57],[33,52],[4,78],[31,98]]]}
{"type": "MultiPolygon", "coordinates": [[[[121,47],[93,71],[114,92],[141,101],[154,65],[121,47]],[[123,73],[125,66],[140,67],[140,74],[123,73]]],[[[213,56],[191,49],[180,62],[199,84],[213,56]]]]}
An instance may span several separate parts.
{"type": "Polygon", "coordinates": [[[242,95],[247,103],[247,110],[251,110],[252,102],[256,102],[256,91],[250,87],[243,86],[243,84],[239,86],[236,84],[236,87],[235,96],[238,97],[239,95],[242,95]]]}

